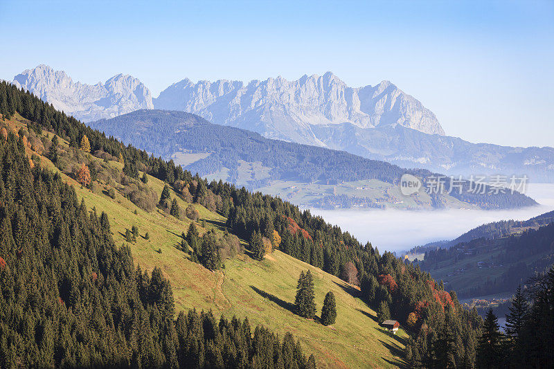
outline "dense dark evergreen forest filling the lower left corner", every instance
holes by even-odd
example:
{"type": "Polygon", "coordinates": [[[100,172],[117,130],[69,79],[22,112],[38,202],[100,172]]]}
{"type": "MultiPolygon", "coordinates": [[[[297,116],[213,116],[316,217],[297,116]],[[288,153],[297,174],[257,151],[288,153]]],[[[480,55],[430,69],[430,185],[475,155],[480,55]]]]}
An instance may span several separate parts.
{"type": "MultiPolygon", "coordinates": [[[[136,226],[129,231],[136,235],[136,226]]],[[[291,334],[181,312],[161,270],[135,269],[106,213],[0,136],[0,367],[314,368],[291,334]]]]}

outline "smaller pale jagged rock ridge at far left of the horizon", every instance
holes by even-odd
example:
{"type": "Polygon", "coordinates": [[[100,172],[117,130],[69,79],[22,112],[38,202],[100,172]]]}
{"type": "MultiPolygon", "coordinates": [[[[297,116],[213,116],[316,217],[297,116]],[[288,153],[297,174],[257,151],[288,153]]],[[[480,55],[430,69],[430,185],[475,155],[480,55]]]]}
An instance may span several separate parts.
{"type": "Polygon", "coordinates": [[[131,75],[114,75],[103,84],[82,84],[42,64],[16,75],[13,83],[84,122],[154,107],[150,90],[131,75]]]}

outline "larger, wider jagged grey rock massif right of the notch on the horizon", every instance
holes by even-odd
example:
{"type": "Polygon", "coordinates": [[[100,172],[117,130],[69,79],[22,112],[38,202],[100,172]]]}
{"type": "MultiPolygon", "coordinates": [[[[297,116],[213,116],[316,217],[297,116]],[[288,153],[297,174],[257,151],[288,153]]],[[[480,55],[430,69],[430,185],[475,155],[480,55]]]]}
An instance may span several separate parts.
{"type": "Polygon", "coordinates": [[[285,78],[172,84],[154,99],[156,109],[181,110],[214,123],[258,132],[268,138],[326,146],[312,125],[352,123],[360,128],[402,125],[427,134],[444,135],[436,116],[394,84],[348,87],[327,72],[285,78]]]}

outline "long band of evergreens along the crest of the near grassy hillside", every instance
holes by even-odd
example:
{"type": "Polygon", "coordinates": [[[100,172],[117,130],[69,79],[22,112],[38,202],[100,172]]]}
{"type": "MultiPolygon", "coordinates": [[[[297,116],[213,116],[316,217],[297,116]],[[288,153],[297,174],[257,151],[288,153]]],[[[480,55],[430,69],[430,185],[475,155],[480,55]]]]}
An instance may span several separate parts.
{"type": "MultiPolygon", "coordinates": [[[[451,298],[443,287],[436,288],[429,273],[405,264],[392,253],[380,255],[371,244],[360,244],[348,232],[342,232],[341,228],[326,223],[321,217],[314,217],[309,210],[301,212],[287,201],[260,192],[252,193],[245,188],[235,188],[222,181],[208,183],[198,174],[193,176],[176,166],[173,161],[148,156],[145,151],[131,145],[125,146],[113,137],[106,137],[11,84],[2,82],[0,86],[0,106],[3,106],[3,100],[10,101],[6,106],[13,106],[11,113],[8,109],[8,114],[18,111],[24,118],[36,122],[33,123],[36,129],[53,131],[74,147],[82,141],[82,136],[87,136],[93,154],[101,155],[103,152],[120,157],[124,163],[133,163],[148,175],[166,181],[184,198],[226,216],[226,226],[233,235],[249,240],[253,233],[259,233],[271,240],[274,231],[277,231],[281,237],[281,251],[335,276],[348,276],[348,273],[342,272],[348,263],[353,264],[355,268],[350,267],[349,270],[357,270],[359,276],[348,276],[348,279],[361,281],[362,297],[375,309],[382,302],[386,303],[391,318],[402,323],[409,314],[417,313],[416,323],[411,327],[417,339],[408,348],[414,365],[429,363],[432,357],[425,357],[428,355],[427,348],[436,341],[436,332],[441,332],[447,326],[450,326],[452,341],[456,343],[456,365],[462,362],[474,363],[474,347],[481,318],[465,312],[455,294],[451,294],[451,298]],[[301,231],[296,231],[293,224],[300,227],[301,231]],[[382,276],[387,276],[387,280],[394,283],[383,284],[382,276]]],[[[196,239],[196,244],[194,240],[187,240],[193,250],[193,260],[197,258],[208,269],[217,269],[223,260],[223,249],[217,246],[217,240],[214,251],[213,238],[208,233],[196,239]]],[[[310,304],[303,305],[302,314],[314,316],[315,307],[312,309],[310,304]]]]}

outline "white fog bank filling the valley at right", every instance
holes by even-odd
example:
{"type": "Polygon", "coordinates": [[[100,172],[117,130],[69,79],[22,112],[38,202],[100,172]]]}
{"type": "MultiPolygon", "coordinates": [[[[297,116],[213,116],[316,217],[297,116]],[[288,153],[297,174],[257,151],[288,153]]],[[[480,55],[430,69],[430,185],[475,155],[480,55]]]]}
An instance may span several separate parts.
{"type": "Polygon", "coordinates": [[[499,220],[526,220],[554,210],[554,184],[530,184],[526,195],[540,205],[519,210],[321,210],[311,209],[326,222],[337,224],[360,242],[382,251],[404,251],[413,246],[453,240],[481,224],[499,220]]]}

